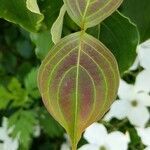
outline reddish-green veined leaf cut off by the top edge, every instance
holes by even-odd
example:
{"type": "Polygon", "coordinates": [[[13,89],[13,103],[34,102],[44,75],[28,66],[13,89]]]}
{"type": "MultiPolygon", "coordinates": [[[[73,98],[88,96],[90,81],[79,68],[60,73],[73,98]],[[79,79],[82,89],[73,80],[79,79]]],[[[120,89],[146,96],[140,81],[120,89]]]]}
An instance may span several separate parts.
{"type": "Polygon", "coordinates": [[[81,29],[93,27],[110,16],[122,0],[64,0],[67,12],[81,29]]]}

